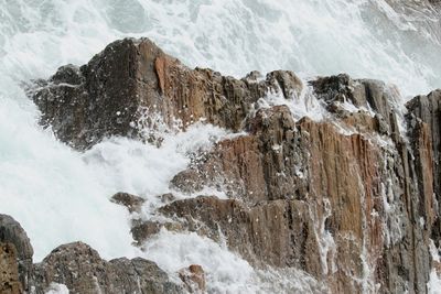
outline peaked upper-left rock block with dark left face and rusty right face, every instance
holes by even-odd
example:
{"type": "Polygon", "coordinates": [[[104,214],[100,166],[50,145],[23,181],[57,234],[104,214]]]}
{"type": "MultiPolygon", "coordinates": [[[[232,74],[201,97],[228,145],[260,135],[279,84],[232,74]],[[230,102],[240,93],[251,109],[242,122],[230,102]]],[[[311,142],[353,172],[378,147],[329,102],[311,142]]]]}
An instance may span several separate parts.
{"type": "Polygon", "coordinates": [[[30,95],[42,111],[42,124],[83,150],[109,135],[143,137],[138,127],[161,123],[155,113],[169,126],[180,120],[185,129],[204,119],[237,131],[268,89],[289,97],[299,95],[302,83],[291,72],[257,81],[190,69],[148,39],[125,39],[87,65],[63,66],[49,80],[37,80],[30,95]]]}

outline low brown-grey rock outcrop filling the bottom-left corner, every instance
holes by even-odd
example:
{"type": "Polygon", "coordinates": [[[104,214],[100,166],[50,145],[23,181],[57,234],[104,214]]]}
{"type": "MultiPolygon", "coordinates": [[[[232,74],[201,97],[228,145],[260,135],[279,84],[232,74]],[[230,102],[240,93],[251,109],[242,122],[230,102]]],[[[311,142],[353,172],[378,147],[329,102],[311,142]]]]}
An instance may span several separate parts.
{"type": "Polygon", "coordinates": [[[33,249],[25,231],[12,217],[0,215],[0,293],[44,294],[54,284],[69,293],[182,293],[154,262],[136,258],[103,260],[82,242],[54,249],[32,264],[33,249]]]}

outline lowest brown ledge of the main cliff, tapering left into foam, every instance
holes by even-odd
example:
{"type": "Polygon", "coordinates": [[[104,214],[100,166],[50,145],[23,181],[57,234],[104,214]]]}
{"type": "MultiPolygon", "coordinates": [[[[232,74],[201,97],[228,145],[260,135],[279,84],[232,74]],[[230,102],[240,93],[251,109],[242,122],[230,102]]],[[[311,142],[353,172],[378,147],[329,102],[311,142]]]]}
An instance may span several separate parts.
{"type": "Polygon", "coordinates": [[[200,235],[219,240],[222,233],[255,265],[303,265],[321,272],[320,261],[310,258],[318,255],[318,240],[303,202],[275,200],[247,208],[240,200],[200,196],[176,200],[161,211],[184,219],[186,229],[200,235]]]}

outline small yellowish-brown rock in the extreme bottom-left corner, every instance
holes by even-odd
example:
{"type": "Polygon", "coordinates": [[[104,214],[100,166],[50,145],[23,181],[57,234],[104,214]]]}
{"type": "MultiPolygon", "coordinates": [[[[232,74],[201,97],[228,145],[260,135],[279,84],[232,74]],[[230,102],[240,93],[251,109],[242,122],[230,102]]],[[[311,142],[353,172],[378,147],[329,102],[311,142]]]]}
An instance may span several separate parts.
{"type": "Polygon", "coordinates": [[[23,293],[22,283],[19,279],[17,250],[12,243],[0,242],[0,293],[23,293]]]}

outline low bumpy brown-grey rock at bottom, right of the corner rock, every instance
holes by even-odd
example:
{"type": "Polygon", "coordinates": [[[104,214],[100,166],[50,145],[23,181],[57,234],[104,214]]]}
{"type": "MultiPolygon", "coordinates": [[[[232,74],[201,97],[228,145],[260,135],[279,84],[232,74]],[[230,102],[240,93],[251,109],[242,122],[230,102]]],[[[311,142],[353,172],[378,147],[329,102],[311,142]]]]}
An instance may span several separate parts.
{"type": "Polygon", "coordinates": [[[136,258],[103,260],[89,246],[75,242],[53,250],[35,265],[36,294],[51,283],[67,286],[71,293],[181,293],[166,273],[151,261],[136,258]]]}

